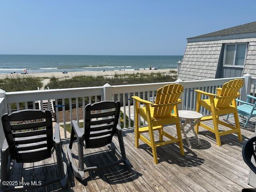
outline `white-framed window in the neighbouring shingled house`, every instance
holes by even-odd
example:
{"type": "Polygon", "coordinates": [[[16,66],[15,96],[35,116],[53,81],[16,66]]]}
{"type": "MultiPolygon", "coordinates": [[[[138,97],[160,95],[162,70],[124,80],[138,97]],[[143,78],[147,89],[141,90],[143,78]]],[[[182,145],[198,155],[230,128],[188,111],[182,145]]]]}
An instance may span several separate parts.
{"type": "Polygon", "coordinates": [[[244,66],[246,49],[246,43],[226,44],[224,66],[244,66]]]}

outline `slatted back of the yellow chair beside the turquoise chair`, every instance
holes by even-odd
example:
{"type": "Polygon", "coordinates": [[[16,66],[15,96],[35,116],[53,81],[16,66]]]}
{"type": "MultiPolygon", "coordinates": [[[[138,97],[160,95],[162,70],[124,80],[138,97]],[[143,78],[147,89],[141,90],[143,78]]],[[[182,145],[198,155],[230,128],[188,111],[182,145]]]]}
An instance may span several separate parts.
{"type": "Polygon", "coordinates": [[[235,79],[223,84],[220,94],[218,96],[218,102],[216,108],[227,108],[232,103],[234,98],[240,96],[238,93],[244,84],[244,80],[235,79]]]}

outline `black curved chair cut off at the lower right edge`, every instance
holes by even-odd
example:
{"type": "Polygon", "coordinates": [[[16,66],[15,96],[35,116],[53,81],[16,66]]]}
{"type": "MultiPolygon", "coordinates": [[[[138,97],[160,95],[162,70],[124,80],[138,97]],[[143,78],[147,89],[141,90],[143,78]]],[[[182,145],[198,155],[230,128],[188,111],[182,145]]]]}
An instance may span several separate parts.
{"type": "MultiPolygon", "coordinates": [[[[244,162],[248,165],[248,167],[256,174],[256,166],[252,162],[252,156],[254,162],[256,162],[256,136],[250,138],[244,144],[242,155],[244,162]]],[[[242,192],[256,192],[254,188],[244,188],[242,192]]]]}

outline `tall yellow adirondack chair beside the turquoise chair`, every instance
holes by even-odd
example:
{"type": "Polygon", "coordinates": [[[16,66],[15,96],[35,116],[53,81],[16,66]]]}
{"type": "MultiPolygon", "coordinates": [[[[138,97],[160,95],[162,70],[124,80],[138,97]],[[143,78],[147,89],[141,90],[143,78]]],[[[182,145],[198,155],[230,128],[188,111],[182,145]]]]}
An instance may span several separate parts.
{"type": "Polygon", "coordinates": [[[239,90],[242,88],[244,81],[242,79],[235,79],[223,84],[222,88],[217,88],[217,94],[207,93],[201,90],[195,90],[196,96],[196,111],[199,112],[201,106],[209,110],[212,115],[204,116],[200,122],[196,125],[196,133],[198,133],[198,127],[201,126],[210,132],[215,133],[218,146],[221,146],[220,136],[237,133],[238,140],[242,141],[242,135],[240,131],[240,124],[238,120],[238,112],[236,108],[236,98],[240,96],[239,90]],[[209,99],[201,100],[201,95],[206,95],[209,99]],[[234,119],[236,126],[232,126],[226,122],[220,121],[219,116],[225,114],[234,113],[234,119]],[[212,120],[214,128],[203,124],[202,121],[212,120]],[[231,128],[231,130],[219,132],[218,124],[231,128]]]}

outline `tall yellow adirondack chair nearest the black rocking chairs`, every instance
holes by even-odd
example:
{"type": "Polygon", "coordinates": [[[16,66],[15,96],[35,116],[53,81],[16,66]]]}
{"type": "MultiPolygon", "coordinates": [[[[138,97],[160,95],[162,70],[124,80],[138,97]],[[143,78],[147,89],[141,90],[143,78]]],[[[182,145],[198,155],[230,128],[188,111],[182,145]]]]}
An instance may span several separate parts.
{"type": "Polygon", "coordinates": [[[156,101],[152,103],[143,100],[138,96],[133,96],[135,101],[135,147],[139,147],[139,139],[148,144],[152,148],[154,163],[158,164],[156,155],[156,147],[164,146],[178,142],[180,146],[180,154],[184,156],[184,149],[182,143],[182,136],[180,132],[180,120],[178,115],[177,105],[181,103],[179,99],[183,91],[181,84],[169,84],[157,90],[156,101]],[[139,103],[145,107],[139,107],[139,103]],[[174,110],[174,113],[172,111],[174,110]],[[139,128],[139,115],[148,122],[148,126],[139,128]],[[164,132],[163,126],[167,124],[176,124],[177,136],[174,138],[167,132],[164,132]],[[153,131],[158,130],[159,142],[155,142],[153,131]],[[141,133],[148,132],[150,140],[144,137],[141,133]],[[163,136],[170,140],[163,141],[163,136]]]}

